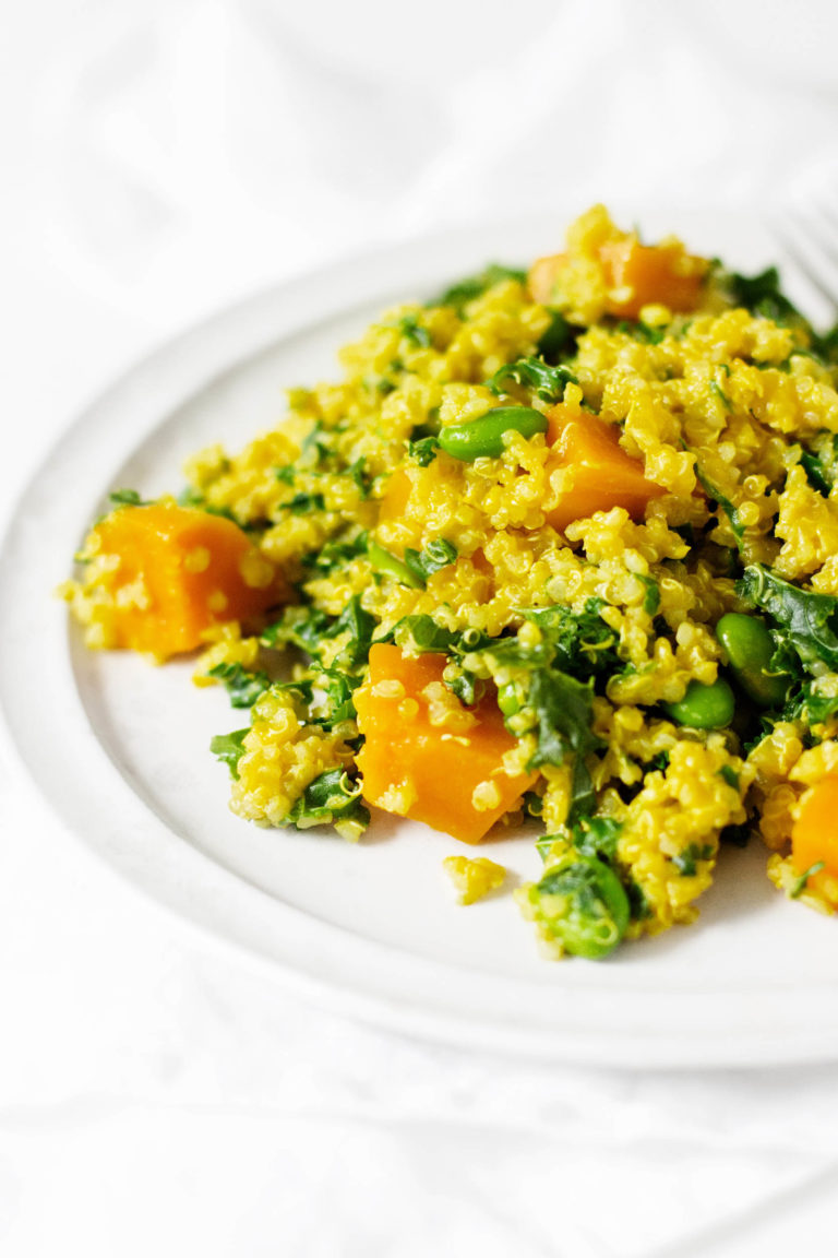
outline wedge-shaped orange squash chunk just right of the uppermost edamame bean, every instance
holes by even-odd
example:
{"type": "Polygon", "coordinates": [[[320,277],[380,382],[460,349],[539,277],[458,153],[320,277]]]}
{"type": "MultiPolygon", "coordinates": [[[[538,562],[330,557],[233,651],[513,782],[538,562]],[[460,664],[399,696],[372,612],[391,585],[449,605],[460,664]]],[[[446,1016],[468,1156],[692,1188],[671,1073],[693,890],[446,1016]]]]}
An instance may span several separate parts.
{"type": "Polygon", "coordinates": [[[643,464],[621,447],[614,424],[563,405],[553,406],[548,418],[547,439],[553,448],[548,468],[563,470],[555,502],[545,511],[554,528],[564,530],[574,520],[612,507],[641,518],[647,503],[663,493],[646,479],[643,464]]]}

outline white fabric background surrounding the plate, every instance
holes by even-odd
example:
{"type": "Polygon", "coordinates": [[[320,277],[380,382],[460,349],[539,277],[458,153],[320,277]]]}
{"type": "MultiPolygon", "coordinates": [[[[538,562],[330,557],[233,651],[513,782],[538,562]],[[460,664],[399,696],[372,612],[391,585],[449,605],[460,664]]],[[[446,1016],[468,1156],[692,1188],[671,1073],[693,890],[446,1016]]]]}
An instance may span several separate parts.
{"type": "MultiPolygon", "coordinates": [[[[132,360],[309,264],[568,196],[827,199],[837,25],[751,0],[6,0],[0,511],[132,360]]],[[[771,1258],[834,1233],[834,1067],[547,1069],[344,1021],[0,769],[4,1255],[771,1258]]]]}

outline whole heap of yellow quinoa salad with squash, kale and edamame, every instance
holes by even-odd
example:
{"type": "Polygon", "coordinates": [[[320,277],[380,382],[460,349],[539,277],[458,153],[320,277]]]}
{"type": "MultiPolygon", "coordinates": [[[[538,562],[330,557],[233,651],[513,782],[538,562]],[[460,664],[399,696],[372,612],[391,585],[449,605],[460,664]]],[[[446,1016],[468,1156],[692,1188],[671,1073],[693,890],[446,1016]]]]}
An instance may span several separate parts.
{"type": "Polygon", "coordinates": [[[178,499],[117,494],[64,594],[90,647],[201,652],[246,711],[212,740],[241,818],[536,818],[515,897],[554,955],[692,921],[751,835],[832,912],[835,361],[774,270],[594,206],[529,272],[387,311],[178,499]]]}

